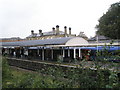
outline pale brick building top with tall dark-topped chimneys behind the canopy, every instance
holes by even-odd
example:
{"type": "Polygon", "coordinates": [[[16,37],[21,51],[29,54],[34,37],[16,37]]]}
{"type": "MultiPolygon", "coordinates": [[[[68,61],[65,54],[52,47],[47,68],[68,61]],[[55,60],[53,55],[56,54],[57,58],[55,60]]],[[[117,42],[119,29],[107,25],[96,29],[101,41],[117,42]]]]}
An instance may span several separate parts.
{"type": "Polygon", "coordinates": [[[75,34],[71,34],[71,28],[69,27],[69,33],[67,33],[67,27],[64,27],[64,32],[59,30],[59,26],[52,28],[52,31],[43,32],[39,30],[39,33],[34,33],[34,30],[31,30],[31,35],[26,37],[27,40],[39,40],[39,39],[52,39],[58,37],[75,37],[75,34]]]}

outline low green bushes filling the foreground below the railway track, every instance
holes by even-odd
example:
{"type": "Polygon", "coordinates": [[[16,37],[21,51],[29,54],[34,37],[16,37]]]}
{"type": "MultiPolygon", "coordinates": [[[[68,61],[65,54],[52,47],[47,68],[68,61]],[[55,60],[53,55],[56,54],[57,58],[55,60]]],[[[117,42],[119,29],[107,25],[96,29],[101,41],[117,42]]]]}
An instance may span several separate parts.
{"type": "MultiPolygon", "coordinates": [[[[98,64],[98,63],[96,63],[98,64]]],[[[3,61],[3,88],[118,88],[117,73],[109,70],[91,70],[78,66],[63,68],[44,65],[38,72],[11,69],[3,61]],[[9,75],[8,75],[9,74],[9,75]]]]}

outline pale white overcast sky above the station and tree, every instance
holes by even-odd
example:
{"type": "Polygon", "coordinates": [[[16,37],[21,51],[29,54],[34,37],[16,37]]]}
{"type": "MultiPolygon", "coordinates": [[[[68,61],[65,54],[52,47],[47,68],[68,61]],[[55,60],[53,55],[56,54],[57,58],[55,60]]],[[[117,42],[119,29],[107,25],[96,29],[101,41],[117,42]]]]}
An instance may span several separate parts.
{"type": "Polygon", "coordinates": [[[51,31],[52,27],[71,27],[73,34],[83,31],[95,35],[98,19],[119,0],[0,0],[0,38],[21,37],[51,31]]]}

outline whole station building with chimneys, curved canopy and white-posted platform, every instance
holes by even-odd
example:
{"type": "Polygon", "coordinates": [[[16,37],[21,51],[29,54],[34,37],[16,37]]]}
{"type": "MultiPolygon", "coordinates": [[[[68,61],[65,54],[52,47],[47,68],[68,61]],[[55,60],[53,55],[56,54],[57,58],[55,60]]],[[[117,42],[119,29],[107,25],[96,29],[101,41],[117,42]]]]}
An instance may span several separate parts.
{"type": "MultiPolygon", "coordinates": [[[[7,54],[17,58],[38,59],[38,60],[81,60],[83,58],[83,49],[96,49],[97,46],[109,44],[111,40],[99,40],[95,38],[87,40],[86,35],[81,32],[78,36],[67,33],[67,27],[64,27],[64,32],[59,30],[59,26],[52,28],[50,32],[34,33],[26,37],[26,40],[16,42],[0,42],[1,54],[7,54]],[[103,42],[104,41],[104,42],[103,42]],[[107,42],[106,42],[107,41],[107,42]],[[94,46],[94,47],[93,47],[94,46]],[[92,48],[93,47],[93,48],[92,48]]],[[[100,36],[99,36],[100,37],[100,36]]],[[[103,37],[102,37],[103,38],[103,37]]],[[[120,42],[117,40],[113,43],[113,50],[120,49],[120,42]]],[[[85,54],[86,52],[84,52],[85,54]]]]}

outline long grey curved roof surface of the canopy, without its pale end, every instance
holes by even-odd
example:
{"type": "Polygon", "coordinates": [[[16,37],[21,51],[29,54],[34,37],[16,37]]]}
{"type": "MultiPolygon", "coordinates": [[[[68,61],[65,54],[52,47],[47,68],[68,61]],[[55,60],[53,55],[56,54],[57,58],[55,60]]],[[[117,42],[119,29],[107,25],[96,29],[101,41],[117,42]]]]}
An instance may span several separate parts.
{"type": "Polygon", "coordinates": [[[27,41],[17,41],[17,42],[2,42],[2,46],[37,46],[37,45],[61,45],[65,44],[68,40],[73,37],[61,37],[53,39],[43,39],[43,40],[27,40],[27,41]]]}

